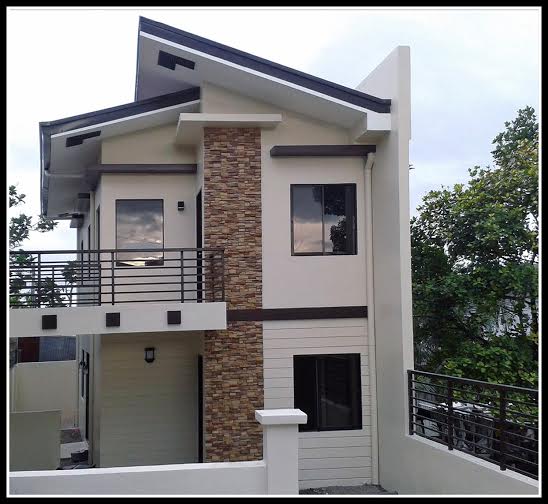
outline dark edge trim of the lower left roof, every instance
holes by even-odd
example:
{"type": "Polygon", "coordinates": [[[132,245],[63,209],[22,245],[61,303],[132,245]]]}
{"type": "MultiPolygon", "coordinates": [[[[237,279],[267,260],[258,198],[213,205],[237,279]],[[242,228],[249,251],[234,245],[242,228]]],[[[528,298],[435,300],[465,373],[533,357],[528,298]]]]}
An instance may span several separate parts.
{"type": "Polygon", "coordinates": [[[146,100],[139,100],[123,105],[117,105],[106,109],[87,112],[55,121],[41,122],[40,129],[40,211],[47,214],[49,179],[44,176],[44,171],[49,170],[51,156],[51,135],[65,133],[94,124],[114,121],[133,115],[159,110],[172,105],[178,105],[200,99],[200,88],[194,87],[169,93],[146,100]]]}

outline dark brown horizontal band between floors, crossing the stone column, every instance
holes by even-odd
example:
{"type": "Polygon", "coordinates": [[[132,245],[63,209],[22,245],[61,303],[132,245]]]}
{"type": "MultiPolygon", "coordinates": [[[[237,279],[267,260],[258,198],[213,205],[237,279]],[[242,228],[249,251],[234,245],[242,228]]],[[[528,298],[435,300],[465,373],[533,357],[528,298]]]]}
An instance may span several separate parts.
{"type": "Polygon", "coordinates": [[[262,308],[227,310],[228,322],[264,320],[310,320],[332,318],[367,318],[367,306],[326,306],[314,308],[262,308]]]}

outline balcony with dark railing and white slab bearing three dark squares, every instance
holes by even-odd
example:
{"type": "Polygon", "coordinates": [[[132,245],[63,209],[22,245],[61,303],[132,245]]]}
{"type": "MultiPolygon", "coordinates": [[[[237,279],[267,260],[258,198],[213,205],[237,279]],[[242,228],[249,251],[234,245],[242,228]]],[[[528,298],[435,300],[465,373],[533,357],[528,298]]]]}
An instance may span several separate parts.
{"type": "Polygon", "coordinates": [[[226,328],[221,249],[10,252],[9,287],[12,337],[226,328]]]}

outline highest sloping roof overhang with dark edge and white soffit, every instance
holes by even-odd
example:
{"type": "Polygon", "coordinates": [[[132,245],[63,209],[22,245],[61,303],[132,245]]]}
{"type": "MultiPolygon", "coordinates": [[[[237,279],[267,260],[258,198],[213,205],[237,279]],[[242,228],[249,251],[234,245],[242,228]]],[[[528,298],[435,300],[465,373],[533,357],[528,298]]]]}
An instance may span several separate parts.
{"type": "Polygon", "coordinates": [[[388,99],[141,17],[135,98],[200,87],[203,82],[344,128],[354,127],[364,114],[390,113],[388,99]]]}

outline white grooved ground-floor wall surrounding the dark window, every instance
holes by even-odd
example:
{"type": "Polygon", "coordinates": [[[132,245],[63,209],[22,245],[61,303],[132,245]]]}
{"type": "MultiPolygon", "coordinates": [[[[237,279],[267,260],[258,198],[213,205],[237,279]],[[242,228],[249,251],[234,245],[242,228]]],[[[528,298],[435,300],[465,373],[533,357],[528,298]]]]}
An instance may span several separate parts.
{"type": "Polygon", "coordinates": [[[366,319],[264,322],[265,409],[293,408],[293,356],[359,353],[362,429],[299,433],[299,486],[371,483],[371,401],[366,319]]]}

